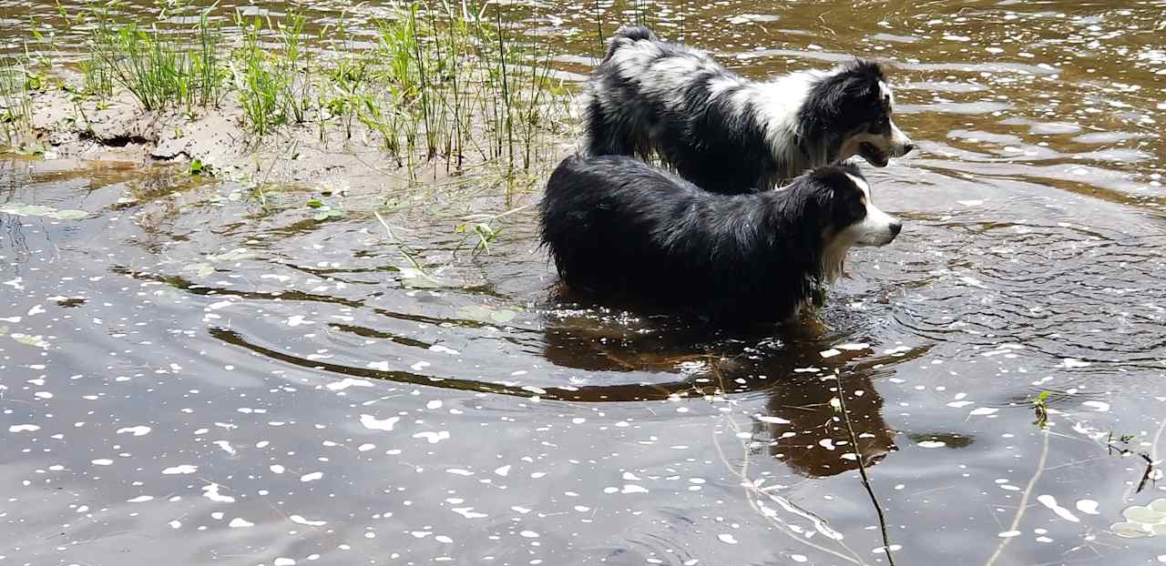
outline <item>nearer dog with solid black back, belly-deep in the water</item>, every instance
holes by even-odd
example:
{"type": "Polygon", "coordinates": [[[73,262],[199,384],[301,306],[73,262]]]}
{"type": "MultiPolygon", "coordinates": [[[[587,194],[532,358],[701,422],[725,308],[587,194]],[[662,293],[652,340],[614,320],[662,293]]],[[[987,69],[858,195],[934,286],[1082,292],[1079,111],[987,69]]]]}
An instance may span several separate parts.
{"type": "Polygon", "coordinates": [[[852,165],[781,191],[717,194],[627,156],[571,156],[540,205],[542,242],[573,289],[688,307],[729,323],[787,320],[822,298],[854,246],[902,225],[852,165]]]}

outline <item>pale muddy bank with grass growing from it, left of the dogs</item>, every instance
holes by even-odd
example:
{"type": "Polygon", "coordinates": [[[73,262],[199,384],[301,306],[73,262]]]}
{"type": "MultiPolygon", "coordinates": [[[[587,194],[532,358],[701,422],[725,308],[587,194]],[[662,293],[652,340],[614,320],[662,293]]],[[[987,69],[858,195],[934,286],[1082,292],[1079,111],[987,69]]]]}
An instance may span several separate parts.
{"type": "MultiPolygon", "coordinates": [[[[296,184],[343,193],[457,184],[464,178],[531,189],[576,143],[577,120],[566,105],[548,115],[538,158],[511,167],[507,160],[490,156],[492,149],[484,147],[459,155],[427,155],[422,148],[412,155],[392,153],[372,127],[326,109],[259,136],[245,127],[244,108],[233,93],[218,105],[191,112],[146,111],[128,91],[106,100],[78,97],[71,86],[78,80],[62,70],[62,87],[29,93],[31,112],[28,132],[17,144],[21,153],[173,164],[195,175],[253,186],[296,184]]],[[[489,136],[483,133],[482,137],[489,136]]]]}

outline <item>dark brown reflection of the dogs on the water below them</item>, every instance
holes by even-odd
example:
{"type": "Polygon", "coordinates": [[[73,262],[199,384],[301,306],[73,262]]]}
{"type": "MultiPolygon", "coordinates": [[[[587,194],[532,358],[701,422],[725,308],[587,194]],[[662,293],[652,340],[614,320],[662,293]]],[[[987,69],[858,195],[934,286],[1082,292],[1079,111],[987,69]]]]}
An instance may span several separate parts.
{"type": "MultiPolygon", "coordinates": [[[[545,325],[543,356],[559,367],[592,374],[573,394],[574,401],[654,401],[673,395],[700,396],[716,391],[767,392],[766,417],[754,420],[752,446],[767,451],[806,476],[829,476],[873,466],[897,450],[895,431],[883,419],[883,397],[874,382],[894,374],[892,361],[879,370],[843,372],[847,410],[858,438],[850,444],[845,420],[830,401],[837,395],[834,368],[848,355],[823,360],[815,337],[710,334],[708,328],[675,319],[649,321],[618,313],[599,319],[596,311],[574,311],[545,325]],[[795,373],[816,367],[817,373],[795,373]],[[604,372],[679,374],[679,381],[604,384],[604,372]],[[858,454],[858,455],[856,455],[858,454]]],[[[817,337],[820,338],[820,337],[817,337]]],[[[850,353],[848,353],[850,354],[850,353]]],[[[852,353],[862,355],[862,353],[852,353]]],[[[895,359],[894,361],[900,361],[895,359]]],[[[611,377],[610,382],[624,381],[611,377]]]]}

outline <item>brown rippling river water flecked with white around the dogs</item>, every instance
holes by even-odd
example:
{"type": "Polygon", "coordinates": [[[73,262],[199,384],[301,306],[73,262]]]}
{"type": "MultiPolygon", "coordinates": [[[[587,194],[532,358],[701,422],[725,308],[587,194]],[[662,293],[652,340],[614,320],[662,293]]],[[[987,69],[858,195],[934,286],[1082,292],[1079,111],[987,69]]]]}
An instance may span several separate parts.
{"type": "MultiPolygon", "coordinates": [[[[575,76],[631,9],[525,24],[575,76]]],[[[452,231],[538,194],[391,196],[420,281],[309,192],[13,157],[0,206],[89,214],[0,213],[0,565],[887,564],[878,509],[899,565],[1166,563],[1166,2],[641,9],[751,76],[886,62],[904,233],[820,324],[563,305],[532,207],[452,231]]]]}

